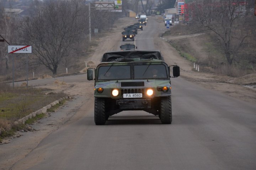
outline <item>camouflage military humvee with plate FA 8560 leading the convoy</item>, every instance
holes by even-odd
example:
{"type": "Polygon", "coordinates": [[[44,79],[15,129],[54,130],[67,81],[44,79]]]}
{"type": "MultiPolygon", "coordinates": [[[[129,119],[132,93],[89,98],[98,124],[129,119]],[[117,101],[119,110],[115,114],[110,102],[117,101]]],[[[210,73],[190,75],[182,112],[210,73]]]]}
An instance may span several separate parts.
{"type": "MultiPolygon", "coordinates": [[[[95,124],[125,110],[144,110],[171,124],[170,67],[158,50],[105,53],[96,69],[87,70],[87,79],[95,80],[95,124]]],[[[178,66],[172,70],[173,77],[180,76],[178,66]]]]}

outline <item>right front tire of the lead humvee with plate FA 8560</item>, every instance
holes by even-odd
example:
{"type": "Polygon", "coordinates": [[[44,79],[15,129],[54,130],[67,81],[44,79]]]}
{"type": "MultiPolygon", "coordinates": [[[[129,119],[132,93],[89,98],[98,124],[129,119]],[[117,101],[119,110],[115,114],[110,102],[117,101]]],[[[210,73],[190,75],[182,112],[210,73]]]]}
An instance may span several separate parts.
{"type": "Polygon", "coordinates": [[[172,122],[171,96],[161,98],[159,117],[162,124],[171,124],[172,122]]]}

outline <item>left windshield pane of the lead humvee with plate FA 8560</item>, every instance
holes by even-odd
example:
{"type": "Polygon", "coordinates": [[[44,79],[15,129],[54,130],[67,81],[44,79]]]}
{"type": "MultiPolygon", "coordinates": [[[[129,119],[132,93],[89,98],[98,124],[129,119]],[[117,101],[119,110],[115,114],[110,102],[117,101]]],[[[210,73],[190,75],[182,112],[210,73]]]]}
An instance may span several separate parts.
{"type": "Polygon", "coordinates": [[[130,66],[101,66],[98,69],[99,80],[130,78],[130,66]]]}

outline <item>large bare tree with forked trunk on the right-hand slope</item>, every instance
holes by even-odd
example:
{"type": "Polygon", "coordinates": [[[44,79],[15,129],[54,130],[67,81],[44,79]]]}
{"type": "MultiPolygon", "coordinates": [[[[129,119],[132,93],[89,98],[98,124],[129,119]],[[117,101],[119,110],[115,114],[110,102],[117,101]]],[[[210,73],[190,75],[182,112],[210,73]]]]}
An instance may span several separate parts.
{"type": "Polygon", "coordinates": [[[210,30],[219,39],[228,64],[231,65],[246,40],[255,34],[249,26],[245,7],[240,0],[194,0],[191,5],[193,22],[202,30],[210,30]]]}

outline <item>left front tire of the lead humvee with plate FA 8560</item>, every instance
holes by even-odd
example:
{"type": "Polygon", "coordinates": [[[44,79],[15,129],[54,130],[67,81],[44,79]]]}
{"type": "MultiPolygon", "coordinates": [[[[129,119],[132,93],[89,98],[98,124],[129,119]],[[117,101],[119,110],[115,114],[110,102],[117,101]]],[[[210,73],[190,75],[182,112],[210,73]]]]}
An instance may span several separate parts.
{"type": "Polygon", "coordinates": [[[105,98],[95,98],[94,100],[94,122],[96,125],[106,123],[105,98]]]}

